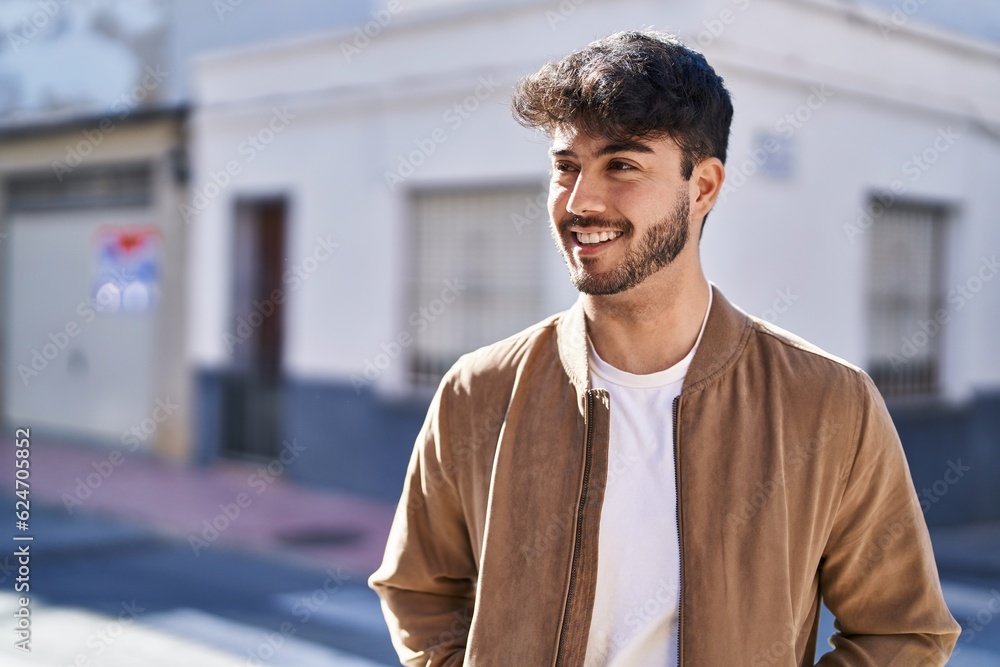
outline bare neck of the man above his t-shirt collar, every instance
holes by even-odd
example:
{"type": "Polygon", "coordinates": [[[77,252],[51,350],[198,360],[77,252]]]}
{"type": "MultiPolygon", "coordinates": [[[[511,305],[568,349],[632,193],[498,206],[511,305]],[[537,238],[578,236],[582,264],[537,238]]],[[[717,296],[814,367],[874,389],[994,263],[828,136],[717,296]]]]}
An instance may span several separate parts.
{"type": "Polygon", "coordinates": [[[583,296],[587,331],[606,362],[645,375],[670,368],[694,347],[709,286],[695,259],[677,258],[640,285],[610,296],[583,296]]]}

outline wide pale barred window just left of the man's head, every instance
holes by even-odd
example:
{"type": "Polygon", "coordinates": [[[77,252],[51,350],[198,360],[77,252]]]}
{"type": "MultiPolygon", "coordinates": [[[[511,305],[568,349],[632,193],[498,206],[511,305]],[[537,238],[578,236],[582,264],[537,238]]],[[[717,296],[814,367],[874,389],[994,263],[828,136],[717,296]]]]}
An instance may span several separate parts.
{"type": "Polygon", "coordinates": [[[413,213],[410,380],[434,387],[465,352],[545,316],[548,212],[538,187],[511,187],[417,192],[413,213]]]}

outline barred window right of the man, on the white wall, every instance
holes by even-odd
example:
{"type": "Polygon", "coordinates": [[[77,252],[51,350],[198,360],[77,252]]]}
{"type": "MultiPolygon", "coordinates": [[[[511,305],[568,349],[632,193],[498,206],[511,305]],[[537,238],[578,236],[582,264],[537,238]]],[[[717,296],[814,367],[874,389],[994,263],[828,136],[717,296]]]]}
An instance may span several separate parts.
{"type": "Polygon", "coordinates": [[[897,202],[869,231],[869,372],[886,398],[940,388],[944,220],[943,207],[897,202]]]}

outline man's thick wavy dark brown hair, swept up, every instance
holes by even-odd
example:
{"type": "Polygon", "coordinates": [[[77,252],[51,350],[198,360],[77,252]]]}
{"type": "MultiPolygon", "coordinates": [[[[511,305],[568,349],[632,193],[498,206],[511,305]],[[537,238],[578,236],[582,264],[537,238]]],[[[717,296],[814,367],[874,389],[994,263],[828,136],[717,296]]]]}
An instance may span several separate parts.
{"type": "Polygon", "coordinates": [[[705,56],[663,32],[618,32],[521,79],[513,112],[522,125],[577,127],[610,141],[672,138],[681,173],[726,161],[733,103],[705,56]]]}

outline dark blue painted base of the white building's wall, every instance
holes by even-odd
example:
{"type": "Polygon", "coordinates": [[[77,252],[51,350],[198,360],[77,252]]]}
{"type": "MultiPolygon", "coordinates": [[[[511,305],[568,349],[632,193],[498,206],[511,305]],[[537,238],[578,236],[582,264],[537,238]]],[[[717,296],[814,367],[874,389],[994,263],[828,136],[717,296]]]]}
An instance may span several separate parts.
{"type": "MultiPolygon", "coordinates": [[[[224,373],[198,373],[197,460],[219,457],[224,373]]],[[[389,402],[349,383],[286,379],[283,439],[296,482],[396,503],[430,396],[389,402]]],[[[890,406],[930,526],[1000,520],[1000,392],[960,407],[890,406]]]]}

